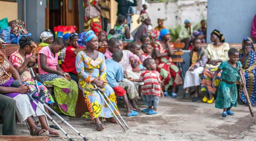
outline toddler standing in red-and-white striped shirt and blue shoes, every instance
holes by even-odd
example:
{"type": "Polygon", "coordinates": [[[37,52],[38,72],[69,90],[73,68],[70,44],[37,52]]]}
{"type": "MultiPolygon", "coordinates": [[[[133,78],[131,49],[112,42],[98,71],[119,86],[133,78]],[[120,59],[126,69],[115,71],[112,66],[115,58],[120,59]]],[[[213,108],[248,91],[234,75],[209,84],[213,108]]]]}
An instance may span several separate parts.
{"type": "Polygon", "coordinates": [[[163,92],[159,83],[161,83],[161,76],[156,71],[156,63],[152,58],[145,59],[143,66],[147,68],[141,72],[140,79],[129,78],[130,81],[144,82],[142,86],[143,104],[149,106],[142,112],[148,115],[157,114],[157,106],[159,97],[163,97],[163,92]],[[152,108],[153,107],[153,108],[152,108]]]}

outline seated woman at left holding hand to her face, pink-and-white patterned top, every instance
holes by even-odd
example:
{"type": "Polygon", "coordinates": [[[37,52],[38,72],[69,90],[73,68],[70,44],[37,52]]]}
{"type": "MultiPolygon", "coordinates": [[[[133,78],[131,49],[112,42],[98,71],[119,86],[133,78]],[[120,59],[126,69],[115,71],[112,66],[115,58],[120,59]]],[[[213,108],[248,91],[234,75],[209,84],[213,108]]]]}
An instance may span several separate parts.
{"type": "MultiPolygon", "coordinates": [[[[22,36],[19,40],[20,49],[15,51],[9,58],[10,63],[18,70],[22,84],[29,85],[31,91],[36,89],[36,82],[32,78],[30,68],[36,63],[36,44],[30,37],[22,36]],[[32,53],[33,52],[33,53],[32,53]]],[[[43,100],[51,104],[54,102],[50,92],[40,82],[37,82],[39,89],[43,88],[45,96],[43,100]]]]}

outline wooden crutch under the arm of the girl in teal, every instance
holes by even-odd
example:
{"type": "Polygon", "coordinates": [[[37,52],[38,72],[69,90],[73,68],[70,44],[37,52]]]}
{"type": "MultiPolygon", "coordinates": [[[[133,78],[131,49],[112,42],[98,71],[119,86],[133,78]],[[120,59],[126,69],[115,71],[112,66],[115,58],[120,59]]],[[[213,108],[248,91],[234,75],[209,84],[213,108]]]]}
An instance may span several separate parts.
{"type": "Polygon", "coordinates": [[[244,95],[245,95],[245,98],[246,98],[246,101],[247,101],[250,113],[251,113],[251,115],[253,117],[254,116],[253,108],[252,108],[251,101],[250,101],[250,98],[249,98],[249,95],[248,95],[248,92],[247,92],[246,82],[245,82],[244,73],[243,73],[243,69],[242,68],[239,68],[239,75],[241,77],[240,84],[241,84],[241,87],[242,87],[242,89],[244,91],[244,95]]]}

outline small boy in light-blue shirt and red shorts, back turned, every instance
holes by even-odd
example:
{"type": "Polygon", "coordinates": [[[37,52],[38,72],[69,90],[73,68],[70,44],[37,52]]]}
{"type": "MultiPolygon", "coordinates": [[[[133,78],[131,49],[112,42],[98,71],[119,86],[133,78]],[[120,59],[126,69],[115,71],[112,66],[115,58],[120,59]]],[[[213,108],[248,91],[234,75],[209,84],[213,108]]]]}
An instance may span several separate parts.
{"type": "Polygon", "coordinates": [[[119,85],[119,82],[123,81],[124,79],[124,71],[121,64],[119,64],[122,57],[123,52],[121,50],[116,50],[112,54],[113,59],[106,59],[107,83],[113,88],[117,96],[123,96],[127,109],[126,116],[136,116],[139,113],[130,109],[126,91],[119,85]]]}

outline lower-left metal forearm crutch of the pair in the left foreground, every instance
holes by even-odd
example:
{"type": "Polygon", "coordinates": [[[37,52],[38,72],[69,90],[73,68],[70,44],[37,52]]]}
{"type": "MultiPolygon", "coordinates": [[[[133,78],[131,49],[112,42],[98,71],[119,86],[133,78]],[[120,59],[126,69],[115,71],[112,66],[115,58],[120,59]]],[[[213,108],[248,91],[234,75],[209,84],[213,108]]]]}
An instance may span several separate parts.
{"type": "MultiPolygon", "coordinates": [[[[42,107],[40,107],[39,106],[39,104],[35,101],[35,99],[33,98],[34,96],[34,94],[36,93],[36,92],[38,92],[38,89],[35,89],[33,92],[31,92],[31,93],[26,93],[26,95],[28,95],[28,97],[29,97],[29,99],[31,100],[31,101],[33,101],[35,104],[36,104],[36,106],[40,109],[40,110],[42,110],[43,112],[44,112],[44,114],[69,138],[69,140],[70,141],[74,141],[74,139],[73,138],[71,138],[69,135],[68,135],[68,133],[67,132],[65,132],[65,130],[64,129],[62,129],[60,126],[59,126],[59,124],[53,119],[53,118],[51,118],[51,116],[47,113],[47,112],[45,112],[45,110],[43,110],[43,108],[42,107]],[[33,97],[32,97],[33,96],[33,97]]],[[[38,97],[41,97],[42,95],[44,94],[44,92],[43,92],[43,89],[41,89],[40,90],[40,92],[39,92],[39,96],[38,97]]],[[[36,98],[36,97],[35,97],[36,98]]],[[[39,101],[40,103],[45,103],[44,101],[39,101]]]]}

